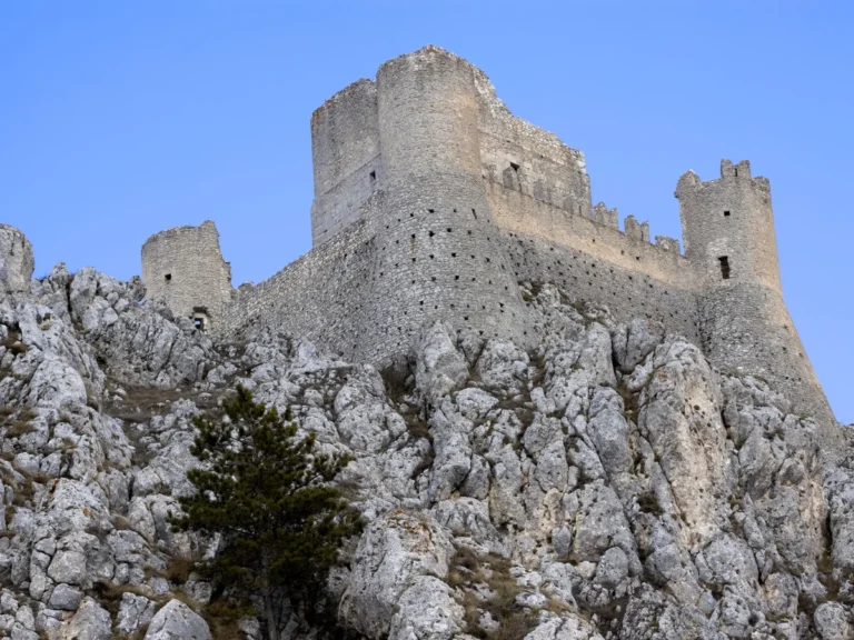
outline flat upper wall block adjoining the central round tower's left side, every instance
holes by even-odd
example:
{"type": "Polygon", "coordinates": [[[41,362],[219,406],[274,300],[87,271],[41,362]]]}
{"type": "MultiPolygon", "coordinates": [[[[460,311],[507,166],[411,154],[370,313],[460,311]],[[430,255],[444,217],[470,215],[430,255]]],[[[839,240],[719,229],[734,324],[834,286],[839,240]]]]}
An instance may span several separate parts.
{"type": "Polygon", "coordinates": [[[311,240],[318,246],[356,222],[361,206],[385,184],[376,82],[354,82],[314,112],[311,153],[311,240]]]}

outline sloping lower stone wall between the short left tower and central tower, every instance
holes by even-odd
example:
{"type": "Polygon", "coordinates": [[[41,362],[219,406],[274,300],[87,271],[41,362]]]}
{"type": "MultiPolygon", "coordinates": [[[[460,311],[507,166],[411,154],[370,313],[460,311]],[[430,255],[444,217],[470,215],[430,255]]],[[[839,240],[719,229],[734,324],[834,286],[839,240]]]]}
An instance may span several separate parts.
{"type": "Polygon", "coordinates": [[[360,344],[373,340],[373,328],[363,332],[373,262],[365,222],[350,224],[257,287],[241,290],[226,314],[224,336],[239,340],[274,327],[355,358],[360,344]]]}

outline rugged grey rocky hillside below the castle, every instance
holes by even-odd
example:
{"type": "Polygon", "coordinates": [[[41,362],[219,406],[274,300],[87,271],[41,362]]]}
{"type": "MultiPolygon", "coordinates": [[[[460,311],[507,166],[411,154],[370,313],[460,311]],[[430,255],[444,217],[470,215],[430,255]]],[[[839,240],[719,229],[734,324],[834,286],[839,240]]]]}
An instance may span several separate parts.
{"type": "MultiPolygon", "coordinates": [[[[852,637],[854,462],[824,460],[834,427],[655,322],[528,287],[534,352],[438,323],[380,372],[269,330],[218,344],[138,280],[31,280],[28,251],[0,228],[7,637],[264,637],[192,572],[216,541],[167,523],[190,419],[237,383],[355,458],[338,481],[368,526],[329,579],[341,634],[852,637]]],[[[284,610],[284,638],[316,636],[284,610]]]]}

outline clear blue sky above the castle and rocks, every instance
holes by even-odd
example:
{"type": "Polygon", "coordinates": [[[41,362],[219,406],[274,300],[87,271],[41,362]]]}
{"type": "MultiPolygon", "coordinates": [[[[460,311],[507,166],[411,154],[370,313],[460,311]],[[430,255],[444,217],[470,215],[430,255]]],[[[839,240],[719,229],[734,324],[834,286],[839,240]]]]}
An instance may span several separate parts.
{"type": "Polygon", "coordinates": [[[215,220],[234,283],[310,248],[309,118],[433,43],[587,157],[594,202],[679,236],[676,180],[772,182],[788,308],[854,422],[854,3],[823,0],[0,3],[0,221],[37,276],[139,273],[157,231],[215,220]]]}

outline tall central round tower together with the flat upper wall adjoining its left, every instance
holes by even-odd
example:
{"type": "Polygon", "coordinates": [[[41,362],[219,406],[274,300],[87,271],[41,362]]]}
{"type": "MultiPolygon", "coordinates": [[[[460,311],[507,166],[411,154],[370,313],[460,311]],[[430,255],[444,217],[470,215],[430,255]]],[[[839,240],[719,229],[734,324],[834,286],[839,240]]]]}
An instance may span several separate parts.
{"type": "MultiPolygon", "coordinates": [[[[384,63],[311,118],[316,248],[357,222],[371,238],[357,358],[405,353],[435,319],[457,332],[528,338],[486,197],[475,68],[436,47],[384,63]]],[[[350,347],[348,344],[348,347],[350,347]]]]}

